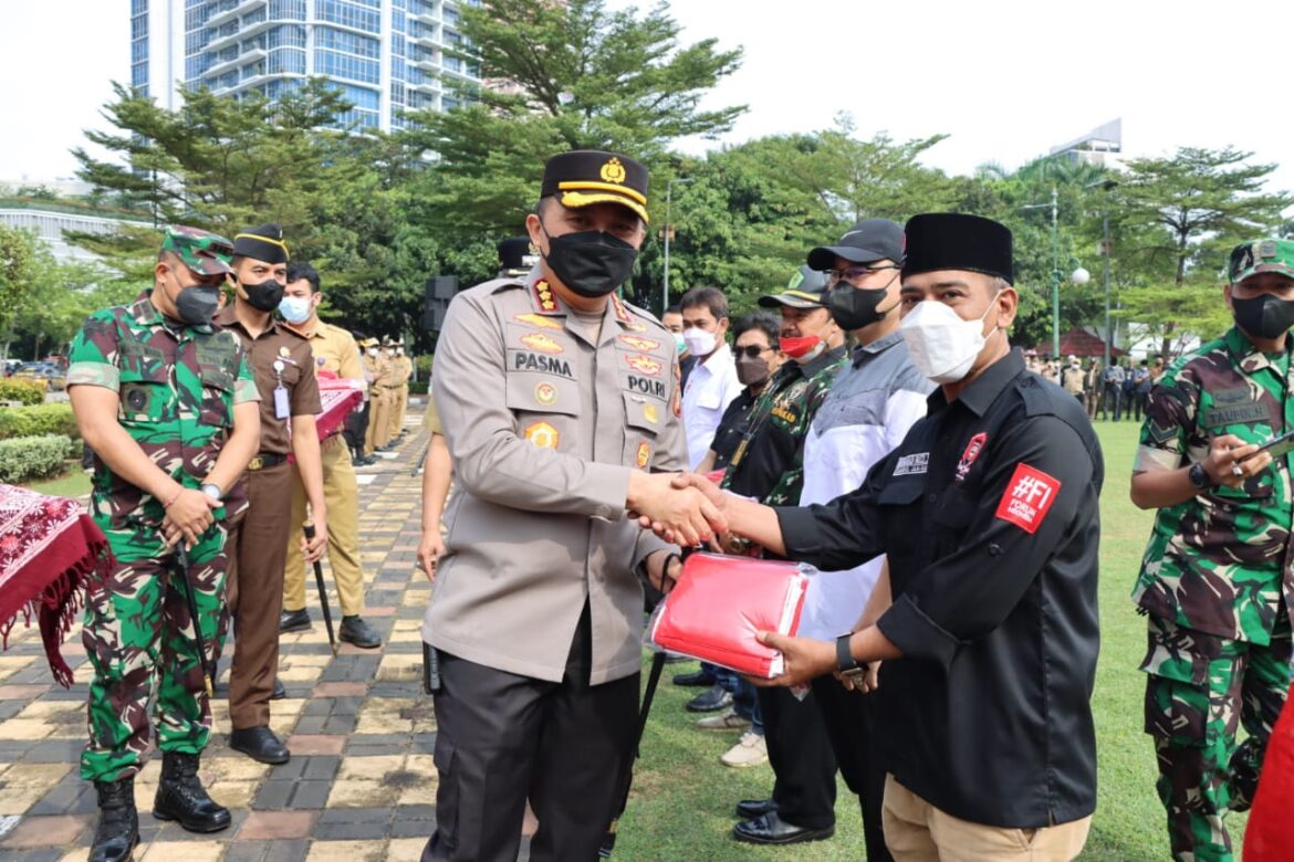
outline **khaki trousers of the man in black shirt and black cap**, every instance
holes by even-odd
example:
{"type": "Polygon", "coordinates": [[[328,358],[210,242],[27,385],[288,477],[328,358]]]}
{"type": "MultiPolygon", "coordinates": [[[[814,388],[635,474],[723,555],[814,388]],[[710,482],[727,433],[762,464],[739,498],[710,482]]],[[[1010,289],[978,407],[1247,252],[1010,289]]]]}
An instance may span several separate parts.
{"type": "Polygon", "coordinates": [[[985,826],[941,812],[885,775],[881,822],[895,862],[1069,862],[1083,850],[1092,817],[1040,830],[985,826]]]}

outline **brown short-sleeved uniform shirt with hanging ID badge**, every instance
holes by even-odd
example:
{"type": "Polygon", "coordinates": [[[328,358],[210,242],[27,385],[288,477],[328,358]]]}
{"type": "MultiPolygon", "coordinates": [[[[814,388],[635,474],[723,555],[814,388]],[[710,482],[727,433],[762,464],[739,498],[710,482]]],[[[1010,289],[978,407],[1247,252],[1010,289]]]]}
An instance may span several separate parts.
{"type": "Polygon", "coordinates": [[[287,389],[290,416],[314,416],[320,412],[320,386],[314,380],[314,354],[305,336],[289,330],[270,318],[269,327],[252,339],[230,302],[216,313],[215,322],[238,336],[247,350],[247,362],[260,393],[260,450],[261,455],[287,455],[292,451],[292,434],[287,419],[281,419],[274,407],[274,390],[280,375],[274,362],[282,361],[282,385],[287,389]]]}

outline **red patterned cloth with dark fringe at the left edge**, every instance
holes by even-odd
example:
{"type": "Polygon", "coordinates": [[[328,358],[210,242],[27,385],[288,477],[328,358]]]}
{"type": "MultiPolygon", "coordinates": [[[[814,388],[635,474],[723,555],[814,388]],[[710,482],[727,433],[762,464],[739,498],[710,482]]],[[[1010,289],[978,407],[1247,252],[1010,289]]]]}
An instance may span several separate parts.
{"type": "Polygon", "coordinates": [[[0,483],[0,638],[32,614],[54,680],[71,686],[60,654],[84,601],[85,579],[111,566],[107,539],[75,500],[0,483]]]}

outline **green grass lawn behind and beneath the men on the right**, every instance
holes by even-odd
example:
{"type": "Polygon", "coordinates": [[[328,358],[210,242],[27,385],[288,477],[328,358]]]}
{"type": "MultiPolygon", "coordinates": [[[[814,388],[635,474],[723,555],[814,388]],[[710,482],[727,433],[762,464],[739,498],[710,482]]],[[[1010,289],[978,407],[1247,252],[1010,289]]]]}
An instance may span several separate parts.
{"type": "MultiPolygon", "coordinates": [[[[1156,766],[1141,733],[1145,623],[1128,593],[1150,531],[1152,514],[1128,500],[1128,476],[1137,428],[1097,423],[1105,450],[1101,498],[1101,657],[1092,707],[1096,715],[1099,799],[1080,858],[1128,862],[1168,858],[1163,808],[1154,794],[1156,766]]],[[[646,671],[644,664],[644,671],[646,671]]],[[[829,841],[773,849],[730,837],[739,799],[765,797],[773,788],[767,765],[730,769],[718,757],[739,734],[696,730],[683,703],[696,689],[669,684],[666,666],[643,739],[634,794],[621,821],[617,858],[624,859],[862,859],[862,825],[855,797],[839,781],[836,836],[829,841]]],[[[644,673],[646,678],[646,673],[644,673]]],[[[986,794],[994,792],[985,787],[986,794]]],[[[1245,815],[1227,821],[1240,858],[1245,815]]]]}

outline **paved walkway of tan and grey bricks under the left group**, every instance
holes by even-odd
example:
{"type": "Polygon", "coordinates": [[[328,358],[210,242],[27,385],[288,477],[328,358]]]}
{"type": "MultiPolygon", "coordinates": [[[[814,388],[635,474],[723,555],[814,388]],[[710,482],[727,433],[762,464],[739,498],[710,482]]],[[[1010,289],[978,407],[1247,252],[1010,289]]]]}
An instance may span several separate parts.
{"type": "MultiPolygon", "coordinates": [[[[421,407],[410,406],[410,433],[396,456],[361,472],[371,477],[361,478],[360,489],[365,618],[382,635],[382,647],[344,644],[334,658],[311,578],[307,607],[314,627],[282,636],[280,678],[287,699],[272,704],[272,726],[287,739],[291,762],[268,766],[230,751],[229,713],[217,691],[202,778],[212,797],[232,809],[233,825],[193,835],[153,819],[160,770],[160,757],[154,757],[135,784],[136,859],[419,858],[435,828],[436,795],[436,722],[431,699],[422,694],[418,631],[430,585],[415,567],[421,478],[410,476],[426,445],[421,417],[421,407]]],[[[331,584],[326,566],[325,576],[331,584]]],[[[335,592],[330,605],[338,623],[335,592]]],[[[0,859],[84,859],[94,831],[94,791],[78,777],[89,678],[79,627],[63,655],[76,672],[71,690],[50,678],[35,628],[19,624],[0,653],[0,859]]],[[[220,680],[228,677],[225,659],[220,680]]]]}

